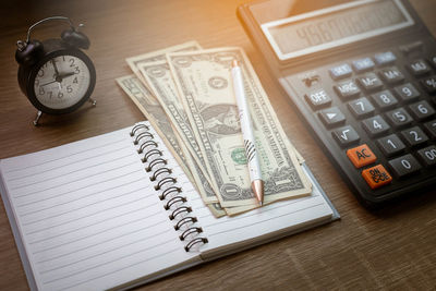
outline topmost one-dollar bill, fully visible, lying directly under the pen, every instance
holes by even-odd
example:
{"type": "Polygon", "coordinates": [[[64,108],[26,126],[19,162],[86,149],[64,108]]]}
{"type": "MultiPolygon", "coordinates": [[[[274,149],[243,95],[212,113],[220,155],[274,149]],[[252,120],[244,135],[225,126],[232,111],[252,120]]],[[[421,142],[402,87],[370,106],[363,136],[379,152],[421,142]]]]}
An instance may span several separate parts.
{"type": "Polygon", "coordinates": [[[243,73],[265,185],[264,203],[311,193],[294,148],[242,49],[167,53],[167,59],[222,207],[256,205],[233,96],[232,60],[239,61],[243,73]]]}

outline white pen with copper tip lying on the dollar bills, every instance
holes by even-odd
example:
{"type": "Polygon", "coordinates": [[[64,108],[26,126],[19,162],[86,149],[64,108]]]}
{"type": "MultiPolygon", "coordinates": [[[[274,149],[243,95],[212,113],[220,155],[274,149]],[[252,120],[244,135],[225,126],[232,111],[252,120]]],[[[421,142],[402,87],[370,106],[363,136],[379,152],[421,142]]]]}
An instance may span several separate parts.
{"type": "Polygon", "coordinates": [[[256,151],[242,72],[237,60],[233,60],[232,62],[231,74],[233,80],[233,92],[238,102],[239,119],[241,121],[242,136],[244,138],[245,155],[249,163],[250,181],[252,183],[253,192],[262,206],[264,203],[264,181],[262,180],[261,165],[256,151]]]}

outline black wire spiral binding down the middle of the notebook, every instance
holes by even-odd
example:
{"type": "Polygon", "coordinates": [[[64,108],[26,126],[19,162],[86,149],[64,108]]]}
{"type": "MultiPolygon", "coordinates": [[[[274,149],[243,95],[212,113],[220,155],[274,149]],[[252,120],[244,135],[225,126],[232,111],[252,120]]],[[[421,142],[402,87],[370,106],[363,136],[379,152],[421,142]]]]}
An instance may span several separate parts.
{"type": "Polygon", "coordinates": [[[186,206],[186,197],[181,196],[182,189],[177,185],[178,181],[171,177],[172,170],[168,167],[168,161],[162,157],[158,144],[153,141],[154,135],[149,132],[149,126],[143,123],[134,125],[130,132],[133,144],[138,146],[137,154],[142,156],[142,162],[146,163],[145,171],[149,172],[149,179],[155,183],[155,190],[161,191],[159,199],[164,202],[164,208],[170,211],[169,219],[175,221],[174,230],[180,231],[179,239],[187,242],[184,246],[186,252],[198,244],[206,244],[206,238],[196,237],[190,239],[190,235],[203,232],[201,227],[193,226],[198,220],[194,216],[190,216],[192,208],[186,206]],[[184,228],[183,228],[184,227],[184,228]]]}

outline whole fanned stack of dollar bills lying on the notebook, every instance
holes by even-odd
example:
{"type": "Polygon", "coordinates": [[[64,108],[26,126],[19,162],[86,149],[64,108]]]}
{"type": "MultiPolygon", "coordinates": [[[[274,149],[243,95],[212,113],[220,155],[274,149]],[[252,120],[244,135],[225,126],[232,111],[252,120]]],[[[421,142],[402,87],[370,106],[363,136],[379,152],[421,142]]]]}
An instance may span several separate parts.
{"type": "Polygon", "coordinates": [[[203,49],[189,41],[128,58],[134,74],[117,80],[216,217],[258,207],[232,88],[233,60],[243,73],[265,186],[264,205],[308,195],[312,185],[301,168],[303,158],[286,136],[241,48],[203,49]]]}

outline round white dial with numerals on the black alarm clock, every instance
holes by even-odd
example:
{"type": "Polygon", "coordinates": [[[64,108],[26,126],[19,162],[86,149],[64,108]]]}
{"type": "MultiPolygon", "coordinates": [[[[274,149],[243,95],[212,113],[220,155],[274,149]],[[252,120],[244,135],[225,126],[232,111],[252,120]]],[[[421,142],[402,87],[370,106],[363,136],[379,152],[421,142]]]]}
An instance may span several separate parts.
{"type": "Polygon", "coordinates": [[[81,101],[89,84],[90,73],[84,61],[75,56],[59,56],[39,68],[34,90],[41,105],[65,109],[81,101]]]}

